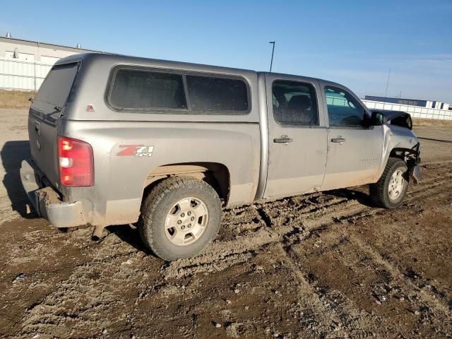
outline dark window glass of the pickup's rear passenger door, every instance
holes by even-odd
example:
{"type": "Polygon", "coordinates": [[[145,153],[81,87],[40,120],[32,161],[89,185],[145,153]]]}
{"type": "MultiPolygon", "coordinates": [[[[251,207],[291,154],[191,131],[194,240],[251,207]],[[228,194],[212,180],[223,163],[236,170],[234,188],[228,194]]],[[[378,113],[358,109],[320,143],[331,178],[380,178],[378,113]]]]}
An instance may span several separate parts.
{"type": "Polygon", "coordinates": [[[316,90],[309,83],[273,81],[273,117],[283,125],[318,126],[316,90]]]}

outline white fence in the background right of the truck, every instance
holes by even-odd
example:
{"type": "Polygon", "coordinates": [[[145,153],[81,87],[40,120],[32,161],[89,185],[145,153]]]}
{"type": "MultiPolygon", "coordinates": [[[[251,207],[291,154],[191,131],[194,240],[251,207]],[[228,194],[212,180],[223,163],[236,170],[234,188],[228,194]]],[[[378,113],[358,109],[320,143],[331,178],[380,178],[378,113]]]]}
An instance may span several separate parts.
{"type": "Polygon", "coordinates": [[[452,111],[446,109],[426,108],[411,105],[391,104],[389,102],[362,100],[369,109],[388,109],[408,112],[413,118],[452,120],[452,111]]]}

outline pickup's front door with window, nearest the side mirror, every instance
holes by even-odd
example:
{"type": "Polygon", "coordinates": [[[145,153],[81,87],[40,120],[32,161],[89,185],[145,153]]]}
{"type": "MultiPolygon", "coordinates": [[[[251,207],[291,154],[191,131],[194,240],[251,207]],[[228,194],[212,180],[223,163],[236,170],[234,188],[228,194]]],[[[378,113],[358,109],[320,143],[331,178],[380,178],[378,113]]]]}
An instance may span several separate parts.
{"type": "Polygon", "coordinates": [[[321,82],[328,117],[328,157],[322,190],[375,182],[383,152],[381,126],[365,126],[369,112],[338,84],[321,82]]]}

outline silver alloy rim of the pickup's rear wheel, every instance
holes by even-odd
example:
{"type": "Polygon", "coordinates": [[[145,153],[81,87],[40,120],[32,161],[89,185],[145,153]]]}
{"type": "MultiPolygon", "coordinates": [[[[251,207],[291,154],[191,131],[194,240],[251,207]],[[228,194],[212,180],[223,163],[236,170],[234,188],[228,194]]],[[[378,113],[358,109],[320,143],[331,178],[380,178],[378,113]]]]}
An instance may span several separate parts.
{"type": "Polygon", "coordinates": [[[165,218],[165,234],[174,245],[193,244],[203,235],[208,222],[206,203],[188,197],[174,203],[165,218]]]}

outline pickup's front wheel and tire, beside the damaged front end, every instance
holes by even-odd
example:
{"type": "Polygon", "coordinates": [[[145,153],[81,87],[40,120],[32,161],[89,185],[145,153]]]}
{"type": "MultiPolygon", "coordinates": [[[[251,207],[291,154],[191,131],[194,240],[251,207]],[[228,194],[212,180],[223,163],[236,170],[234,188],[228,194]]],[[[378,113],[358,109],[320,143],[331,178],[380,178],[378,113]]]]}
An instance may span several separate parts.
{"type": "Polygon", "coordinates": [[[377,207],[396,208],[400,206],[407,194],[408,178],[408,167],[405,162],[397,157],[390,157],[379,181],[370,185],[371,201],[377,207]],[[394,177],[396,177],[396,181],[394,181],[394,177]],[[395,182],[396,184],[394,184],[395,182]]]}

